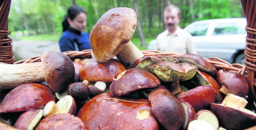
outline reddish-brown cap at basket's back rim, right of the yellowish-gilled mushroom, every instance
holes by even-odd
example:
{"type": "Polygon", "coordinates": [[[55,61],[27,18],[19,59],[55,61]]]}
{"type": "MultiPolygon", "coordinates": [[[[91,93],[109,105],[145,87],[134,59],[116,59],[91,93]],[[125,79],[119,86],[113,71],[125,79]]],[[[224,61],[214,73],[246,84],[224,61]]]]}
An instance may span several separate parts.
{"type": "Polygon", "coordinates": [[[216,68],[207,60],[204,60],[204,57],[197,54],[183,54],[176,57],[180,62],[187,62],[189,64],[193,64],[198,66],[199,70],[207,72],[211,75],[214,75],[217,70],[216,68]]]}

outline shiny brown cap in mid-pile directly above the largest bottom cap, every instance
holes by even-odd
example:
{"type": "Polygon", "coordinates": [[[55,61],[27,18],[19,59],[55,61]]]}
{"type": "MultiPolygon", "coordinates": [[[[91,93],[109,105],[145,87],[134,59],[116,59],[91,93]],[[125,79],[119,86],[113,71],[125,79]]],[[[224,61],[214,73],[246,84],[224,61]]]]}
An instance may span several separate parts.
{"type": "Polygon", "coordinates": [[[120,97],[141,88],[154,88],[159,84],[160,80],[150,72],[132,68],[121,73],[110,84],[110,95],[120,97]]]}

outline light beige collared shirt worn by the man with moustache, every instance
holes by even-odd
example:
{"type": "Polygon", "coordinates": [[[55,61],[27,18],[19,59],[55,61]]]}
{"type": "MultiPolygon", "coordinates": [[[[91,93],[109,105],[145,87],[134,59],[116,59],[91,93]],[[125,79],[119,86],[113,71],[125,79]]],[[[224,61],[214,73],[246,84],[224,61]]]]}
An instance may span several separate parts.
{"type": "Polygon", "coordinates": [[[156,50],[178,52],[181,54],[196,54],[196,47],[192,42],[191,34],[182,30],[180,27],[173,34],[165,30],[157,36],[156,41],[156,50]]]}

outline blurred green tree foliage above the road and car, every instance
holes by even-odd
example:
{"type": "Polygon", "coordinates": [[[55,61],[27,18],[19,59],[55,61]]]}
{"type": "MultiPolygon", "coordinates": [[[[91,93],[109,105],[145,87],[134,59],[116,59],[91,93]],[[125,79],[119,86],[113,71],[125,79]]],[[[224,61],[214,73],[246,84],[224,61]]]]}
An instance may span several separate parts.
{"type": "MultiPolygon", "coordinates": [[[[133,0],[12,0],[9,30],[27,30],[29,34],[62,32],[62,20],[72,3],[88,13],[85,32],[92,30],[107,10],[115,7],[134,9],[133,0]]],[[[176,4],[182,11],[180,27],[205,19],[244,17],[239,0],[138,0],[139,16],[145,37],[156,37],[164,30],[163,10],[176,4]]],[[[134,34],[138,36],[138,33],[134,34]]]]}

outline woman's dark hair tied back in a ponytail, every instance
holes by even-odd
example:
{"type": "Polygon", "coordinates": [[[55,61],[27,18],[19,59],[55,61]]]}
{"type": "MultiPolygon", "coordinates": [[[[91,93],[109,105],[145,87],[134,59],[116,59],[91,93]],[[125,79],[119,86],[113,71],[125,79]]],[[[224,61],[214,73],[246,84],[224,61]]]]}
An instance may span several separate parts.
{"type": "Polygon", "coordinates": [[[62,21],[63,32],[68,30],[68,26],[69,26],[68,18],[70,18],[71,20],[74,20],[74,18],[76,18],[76,15],[80,13],[84,13],[87,15],[86,11],[80,6],[74,5],[68,8],[68,15],[66,15],[64,20],[62,21]]]}

